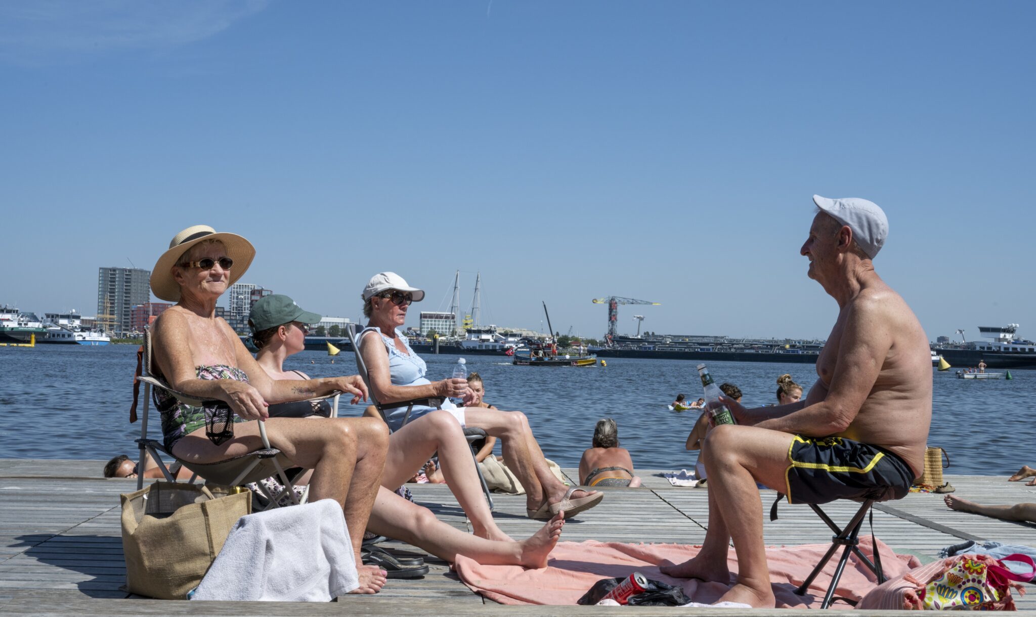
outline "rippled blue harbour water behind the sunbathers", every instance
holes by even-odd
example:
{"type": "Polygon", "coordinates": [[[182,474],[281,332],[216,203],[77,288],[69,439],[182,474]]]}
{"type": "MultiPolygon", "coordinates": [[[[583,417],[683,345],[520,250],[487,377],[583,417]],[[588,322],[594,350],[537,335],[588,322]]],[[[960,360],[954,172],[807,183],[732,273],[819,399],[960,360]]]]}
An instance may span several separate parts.
{"type": "MultiPolygon", "coordinates": [[[[0,348],[0,457],[108,459],[134,454],[140,424],[130,424],[135,346],[44,345],[0,348]]],[[[431,379],[448,377],[456,356],[426,355],[431,379]]],[[[308,351],[287,369],[313,377],[354,373],[352,354],[333,358],[308,351]],[[311,363],[311,361],[313,363],[311,363]]],[[[609,359],[607,368],[513,366],[498,356],[467,356],[469,371],[486,383],[486,400],[500,409],[524,411],[544,453],[575,466],[589,447],[595,422],[611,416],[622,445],[641,468],[690,468],[695,452],[684,441],[697,414],[666,406],[678,392],[700,395],[695,362],[609,359]]],[[[717,382],[738,384],[748,406],[774,402],[777,376],[790,373],[811,384],[812,366],[762,362],[710,362],[717,382]]],[[[1008,474],[1036,464],[1036,372],[1012,372],[1013,380],[972,381],[934,372],[934,416],[928,443],[949,451],[951,473],[1008,474]]],[[[340,415],[361,415],[344,406],[340,415]]],[[[161,439],[159,422],[153,437],[161,439]]],[[[499,453],[499,446],[497,446],[499,453]]],[[[99,473],[99,470],[98,470],[99,473]]]]}

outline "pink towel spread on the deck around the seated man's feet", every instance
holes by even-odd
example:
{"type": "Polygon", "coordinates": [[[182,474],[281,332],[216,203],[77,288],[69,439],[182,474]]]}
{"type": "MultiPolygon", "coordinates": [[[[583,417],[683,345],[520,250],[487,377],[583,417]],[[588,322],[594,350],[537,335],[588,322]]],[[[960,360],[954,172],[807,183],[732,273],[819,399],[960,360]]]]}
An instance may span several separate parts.
{"type": "MultiPolygon", "coordinates": [[[[841,551],[828,562],[806,595],[795,594],[795,588],[802,584],[813,567],[819,563],[830,543],[803,545],[799,547],[770,547],[767,561],[770,564],[770,580],[778,608],[819,608],[824,593],[831,583],[841,551]]],[[[886,578],[898,577],[921,564],[913,555],[896,555],[884,542],[877,540],[882,552],[882,566],[886,578]]],[[[662,575],[658,565],[664,560],[675,563],[697,555],[701,547],[687,545],[627,545],[622,542],[557,542],[550,553],[547,567],[524,569],[517,565],[482,565],[474,560],[457,556],[454,565],[461,581],[489,599],[505,605],[574,605],[587,589],[600,579],[626,577],[636,570],[649,579],[663,581],[670,585],[683,585],[687,597],[698,603],[714,603],[726,591],[720,583],[703,583],[697,580],[670,579],[662,575]]],[[[864,555],[872,555],[871,537],[860,537],[860,550],[864,555]]],[[[738,558],[730,550],[728,559],[730,571],[737,574],[738,558]]],[[[733,575],[731,575],[732,580],[733,575]]],[[[867,566],[855,556],[850,557],[838,582],[836,595],[860,599],[877,585],[876,579],[867,566]]],[[[833,608],[850,608],[838,603],[833,608]]]]}

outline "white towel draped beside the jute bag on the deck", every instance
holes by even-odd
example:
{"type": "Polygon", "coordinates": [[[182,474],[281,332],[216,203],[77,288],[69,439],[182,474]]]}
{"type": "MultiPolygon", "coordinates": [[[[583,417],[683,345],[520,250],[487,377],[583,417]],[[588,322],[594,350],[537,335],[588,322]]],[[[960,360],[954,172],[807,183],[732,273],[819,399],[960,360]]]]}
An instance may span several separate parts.
{"type": "Polygon", "coordinates": [[[241,517],[191,599],[330,601],[359,586],[334,499],[241,517]]]}

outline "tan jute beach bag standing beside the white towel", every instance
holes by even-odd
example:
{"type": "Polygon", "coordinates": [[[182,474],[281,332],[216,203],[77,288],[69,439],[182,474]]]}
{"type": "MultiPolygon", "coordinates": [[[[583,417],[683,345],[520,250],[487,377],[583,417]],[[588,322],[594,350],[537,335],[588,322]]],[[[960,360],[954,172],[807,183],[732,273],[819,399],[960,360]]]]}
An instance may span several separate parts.
{"type": "Polygon", "coordinates": [[[252,513],[252,492],[154,482],[121,495],[126,591],[184,599],[223,549],[231,528],[252,513]]]}

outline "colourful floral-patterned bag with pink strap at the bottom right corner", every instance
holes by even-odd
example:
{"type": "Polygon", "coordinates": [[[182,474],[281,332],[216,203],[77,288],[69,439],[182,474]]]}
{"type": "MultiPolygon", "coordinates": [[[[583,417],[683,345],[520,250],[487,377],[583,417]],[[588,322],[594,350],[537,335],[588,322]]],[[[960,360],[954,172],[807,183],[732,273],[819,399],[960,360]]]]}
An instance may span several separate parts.
{"type": "Polygon", "coordinates": [[[1036,575],[1036,564],[1028,555],[1015,553],[1003,561],[1016,561],[1029,566],[1027,575],[1016,575],[1001,561],[983,555],[957,557],[941,577],[936,577],[919,590],[922,607],[927,610],[1013,611],[1011,588],[1024,593],[1012,581],[1028,582],[1036,575]]]}

